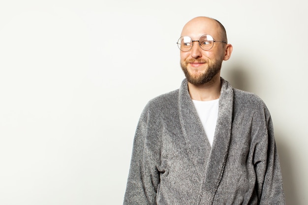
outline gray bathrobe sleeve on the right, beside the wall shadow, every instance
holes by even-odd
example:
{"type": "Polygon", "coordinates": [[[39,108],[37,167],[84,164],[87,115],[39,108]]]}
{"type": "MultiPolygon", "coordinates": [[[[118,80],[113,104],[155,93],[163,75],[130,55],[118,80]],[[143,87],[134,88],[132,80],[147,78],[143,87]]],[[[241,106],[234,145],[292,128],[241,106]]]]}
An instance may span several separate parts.
{"type": "Polygon", "coordinates": [[[285,205],[282,176],[274,138],[272,119],[254,153],[256,189],[260,205],[285,205]]]}

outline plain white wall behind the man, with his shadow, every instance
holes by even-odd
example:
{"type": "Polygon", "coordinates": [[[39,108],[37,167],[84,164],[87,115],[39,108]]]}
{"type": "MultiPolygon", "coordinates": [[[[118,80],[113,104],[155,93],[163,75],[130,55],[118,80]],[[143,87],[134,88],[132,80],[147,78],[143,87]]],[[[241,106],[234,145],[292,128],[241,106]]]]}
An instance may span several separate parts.
{"type": "Polygon", "coordinates": [[[145,104],[184,78],[196,16],[234,46],[222,77],[274,121],[287,204],[308,201],[308,7],[303,0],[0,2],[0,205],[120,205],[145,104]]]}

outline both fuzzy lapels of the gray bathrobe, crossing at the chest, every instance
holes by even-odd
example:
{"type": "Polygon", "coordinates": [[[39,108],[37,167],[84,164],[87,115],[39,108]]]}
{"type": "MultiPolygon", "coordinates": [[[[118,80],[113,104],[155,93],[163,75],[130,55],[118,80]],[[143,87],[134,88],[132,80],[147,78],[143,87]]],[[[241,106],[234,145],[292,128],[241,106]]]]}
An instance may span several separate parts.
{"type": "Polygon", "coordinates": [[[213,203],[228,156],[232,127],[233,89],[221,78],[218,118],[212,148],[188,93],[186,80],[182,82],[179,94],[180,118],[187,150],[198,171],[204,173],[200,204],[209,205],[213,203]],[[204,166],[200,166],[202,163],[204,166]]]}

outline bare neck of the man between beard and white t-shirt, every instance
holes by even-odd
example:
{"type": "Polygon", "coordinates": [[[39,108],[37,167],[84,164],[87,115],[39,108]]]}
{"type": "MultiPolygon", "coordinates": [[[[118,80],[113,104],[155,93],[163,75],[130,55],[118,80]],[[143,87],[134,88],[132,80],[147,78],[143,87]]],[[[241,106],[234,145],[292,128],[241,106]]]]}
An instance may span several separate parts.
{"type": "Polygon", "coordinates": [[[188,82],[188,90],[191,99],[199,101],[216,100],[220,96],[221,82],[220,74],[217,73],[214,78],[202,85],[193,85],[188,82]]]}

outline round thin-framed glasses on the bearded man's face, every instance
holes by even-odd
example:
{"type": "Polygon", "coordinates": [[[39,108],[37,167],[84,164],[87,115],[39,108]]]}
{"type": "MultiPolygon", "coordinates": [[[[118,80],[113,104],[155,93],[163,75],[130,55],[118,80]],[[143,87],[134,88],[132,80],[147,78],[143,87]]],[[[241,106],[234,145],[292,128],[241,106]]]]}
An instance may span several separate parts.
{"type": "MultiPolygon", "coordinates": [[[[181,36],[177,42],[178,47],[181,51],[187,52],[190,51],[190,49],[193,46],[193,41],[189,36],[181,36]]],[[[200,37],[200,39],[197,41],[199,43],[199,46],[202,50],[208,51],[214,46],[214,42],[223,42],[227,44],[226,41],[216,41],[211,35],[205,34],[200,37]]]]}

